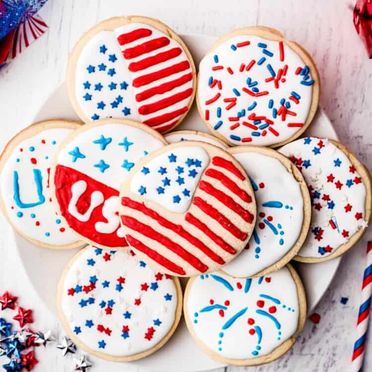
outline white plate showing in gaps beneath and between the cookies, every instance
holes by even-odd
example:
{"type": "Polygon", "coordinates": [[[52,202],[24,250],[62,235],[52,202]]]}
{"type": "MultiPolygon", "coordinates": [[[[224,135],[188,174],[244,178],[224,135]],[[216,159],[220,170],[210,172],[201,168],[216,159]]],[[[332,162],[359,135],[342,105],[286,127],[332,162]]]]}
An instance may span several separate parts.
{"type": "MultiPolygon", "coordinates": [[[[209,36],[183,36],[196,65],[215,41],[209,36]]],[[[34,118],[34,122],[46,119],[74,119],[79,118],[74,113],[68,97],[66,84],[62,84],[48,98],[34,118]]],[[[207,131],[206,125],[200,119],[197,109],[193,106],[186,116],[186,119],[177,129],[193,129],[207,131]]],[[[307,135],[337,139],[332,124],[322,109],[319,109],[313,123],[306,132],[307,135]]],[[[61,272],[77,249],[72,250],[51,250],[32,245],[17,234],[15,245],[18,248],[23,266],[33,283],[44,304],[56,314],[55,293],[61,272]],[[41,267],[43,270],[41,270],[41,267]]],[[[324,292],[328,288],[335,272],[337,271],[340,259],[334,259],[317,264],[305,264],[295,262],[306,288],[309,313],[314,309],[324,292]]],[[[210,359],[204,354],[189,335],[184,319],[170,341],[158,352],[137,362],[137,367],[151,371],[205,371],[219,367],[223,364],[210,359]],[[186,363],[180,363],[180,355],[186,363]]],[[[95,365],[101,367],[99,370],[110,370],[111,372],[123,371],[120,364],[106,361],[96,361],[95,365]]]]}

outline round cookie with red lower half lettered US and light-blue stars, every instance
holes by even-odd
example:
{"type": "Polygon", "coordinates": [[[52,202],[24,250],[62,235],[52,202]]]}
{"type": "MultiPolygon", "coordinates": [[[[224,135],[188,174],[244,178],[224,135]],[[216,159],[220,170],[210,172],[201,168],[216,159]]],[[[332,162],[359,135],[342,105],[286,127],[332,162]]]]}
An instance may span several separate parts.
{"type": "Polygon", "coordinates": [[[118,216],[119,189],[135,163],[167,142],[157,131],[125,119],[102,119],[62,143],[51,186],[63,219],[100,248],[127,244],[118,216]]]}

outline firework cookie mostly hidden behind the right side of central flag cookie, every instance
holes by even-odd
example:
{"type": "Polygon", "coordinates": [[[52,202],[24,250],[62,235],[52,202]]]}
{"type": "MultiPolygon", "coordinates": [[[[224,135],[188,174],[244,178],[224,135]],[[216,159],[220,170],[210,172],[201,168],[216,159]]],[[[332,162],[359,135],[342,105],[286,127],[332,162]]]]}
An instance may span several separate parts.
{"type": "Polygon", "coordinates": [[[239,146],[228,151],[249,175],[257,220],[246,249],[221,270],[235,277],[267,275],[287,264],[305,242],[311,219],[308,186],[275,150],[239,146]]]}

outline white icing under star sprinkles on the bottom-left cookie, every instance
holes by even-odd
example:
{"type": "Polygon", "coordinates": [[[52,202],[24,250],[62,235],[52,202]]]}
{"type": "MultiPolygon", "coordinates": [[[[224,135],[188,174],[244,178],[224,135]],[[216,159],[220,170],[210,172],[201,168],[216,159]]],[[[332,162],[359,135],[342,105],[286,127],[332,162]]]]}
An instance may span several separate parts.
{"type": "Polygon", "coordinates": [[[74,260],[63,280],[62,312],[71,332],[74,332],[75,327],[80,327],[81,332],[77,331],[76,334],[75,331],[75,337],[92,350],[111,356],[134,355],[153,348],[174,324],[178,303],[174,281],[166,279],[164,275],[157,280],[156,274],[155,270],[141,263],[128,251],[113,252],[94,247],[85,249],[74,260]],[[110,255],[110,259],[105,261],[105,255],[110,255]],[[93,265],[88,264],[90,259],[94,261],[93,265]],[[76,270],[79,271],[78,276],[76,270]],[[96,278],[92,278],[94,276],[96,278]],[[118,281],[120,277],[125,279],[122,284],[118,281]],[[85,294],[84,286],[89,286],[91,279],[97,279],[95,289],[85,294]],[[106,281],[110,282],[108,287],[102,284],[107,285],[106,281]],[[141,290],[141,284],[147,284],[147,290],[141,290]],[[77,285],[82,286],[81,292],[68,295],[68,290],[75,289],[77,285]],[[167,294],[171,296],[168,301],[165,298],[167,294]],[[94,303],[87,302],[84,306],[84,302],[90,298],[94,299],[90,300],[94,303]],[[135,299],[140,299],[140,305],[134,305],[135,299]],[[107,314],[110,300],[114,301],[114,305],[111,307],[112,313],[107,314]],[[79,305],[81,301],[83,307],[79,305]],[[103,307],[100,306],[102,301],[105,302],[103,307]],[[93,323],[91,327],[86,325],[87,321],[90,324],[89,320],[93,323]],[[105,329],[109,328],[111,335],[98,331],[99,324],[105,329]],[[123,337],[123,326],[129,327],[125,335],[129,337],[123,337]],[[150,327],[155,332],[147,340],[145,334],[150,327]],[[98,342],[102,340],[106,344],[105,348],[99,348],[98,342]]]}

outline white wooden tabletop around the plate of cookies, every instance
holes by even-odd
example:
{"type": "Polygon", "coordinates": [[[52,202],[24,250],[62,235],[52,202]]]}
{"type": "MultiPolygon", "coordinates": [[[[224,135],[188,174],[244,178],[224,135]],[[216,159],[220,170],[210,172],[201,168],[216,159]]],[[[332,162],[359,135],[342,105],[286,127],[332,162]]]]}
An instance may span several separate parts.
{"type": "MultiPolygon", "coordinates": [[[[40,11],[50,26],[48,33],[0,72],[0,149],[20,128],[31,124],[30,118],[65,79],[67,54],[84,31],[111,16],[141,14],[159,18],[183,34],[218,36],[246,25],[282,30],[288,39],[301,43],[314,57],[322,79],[321,106],[341,140],[371,169],[372,61],[354,30],[352,5],[344,0],[49,0],[40,11]]],[[[0,294],[6,289],[18,294],[21,306],[37,309],[36,328],[52,329],[62,336],[58,320],[40,306],[37,294],[19,267],[17,253],[8,249],[8,231],[1,216],[0,294]]],[[[345,255],[335,280],[317,307],[320,323],[308,321],[295,347],[279,361],[249,371],[348,371],[364,252],[371,236],[368,232],[366,239],[345,255]],[[350,298],[347,305],[340,303],[341,297],[350,298]]],[[[9,317],[10,312],[0,312],[0,316],[9,317]]],[[[372,371],[372,343],[366,354],[365,371],[372,371]]],[[[35,371],[73,370],[71,358],[62,358],[55,347],[39,348],[37,358],[40,363],[35,371]]],[[[0,358],[0,362],[6,360],[0,358]]],[[[92,367],[89,371],[99,370],[92,367]]],[[[130,365],[123,365],[122,370],[138,371],[130,365]]]]}

